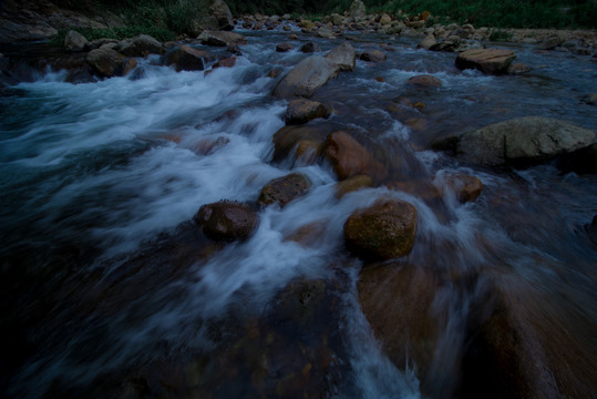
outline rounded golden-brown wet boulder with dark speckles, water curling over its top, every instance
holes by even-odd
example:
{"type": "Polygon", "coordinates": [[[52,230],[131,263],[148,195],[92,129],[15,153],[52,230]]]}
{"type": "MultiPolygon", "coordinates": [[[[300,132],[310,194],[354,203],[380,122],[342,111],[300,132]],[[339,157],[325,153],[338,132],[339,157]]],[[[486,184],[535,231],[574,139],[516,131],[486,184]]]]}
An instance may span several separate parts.
{"type": "Polygon", "coordinates": [[[381,198],[354,212],[344,223],[349,250],[366,259],[392,259],[408,255],[416,235],[416,208],[393,198],[381,198]]]}

